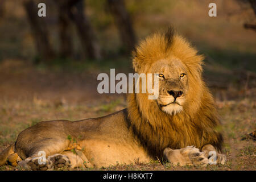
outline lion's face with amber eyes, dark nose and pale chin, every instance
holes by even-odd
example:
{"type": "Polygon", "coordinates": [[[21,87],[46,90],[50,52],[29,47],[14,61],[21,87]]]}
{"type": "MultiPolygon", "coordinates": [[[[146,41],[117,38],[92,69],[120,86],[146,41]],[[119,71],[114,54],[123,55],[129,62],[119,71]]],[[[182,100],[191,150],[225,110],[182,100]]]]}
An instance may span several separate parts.
{"type": "Polygon", "coordinates": [[[188,90],[188,74],[185,65],[177,58],[156,61],[151,71],[159,73],[159,97],[156,100],[160,110],[176,114],[183,110],[188,90]]]}

